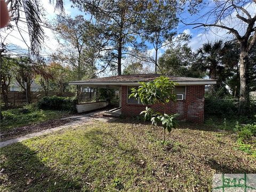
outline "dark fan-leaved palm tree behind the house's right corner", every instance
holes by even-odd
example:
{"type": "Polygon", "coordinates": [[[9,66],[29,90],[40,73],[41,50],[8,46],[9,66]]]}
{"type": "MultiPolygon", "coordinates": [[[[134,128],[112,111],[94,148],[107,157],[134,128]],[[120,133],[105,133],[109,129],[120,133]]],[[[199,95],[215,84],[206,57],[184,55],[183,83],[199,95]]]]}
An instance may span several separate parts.
{"type": "Polygon", "coordinates": [[[208,71],[211,79],[217,79],[218,83],[211,85],[210,92],[214,93],[221,83],[230,75],[233,66],[238,62],[238,55],[234,51],[235,44],[221,40],[213,43],[207,42],[197,50],[198,62],[195,68],[208,71]]]}

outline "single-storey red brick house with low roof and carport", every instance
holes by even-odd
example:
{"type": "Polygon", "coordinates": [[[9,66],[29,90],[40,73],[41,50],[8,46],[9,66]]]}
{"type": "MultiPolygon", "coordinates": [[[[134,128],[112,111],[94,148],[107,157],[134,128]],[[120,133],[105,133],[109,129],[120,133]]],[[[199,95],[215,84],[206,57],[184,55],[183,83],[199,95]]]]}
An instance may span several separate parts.
{"type": "MultiPolygon", "coordinates": [[[[90,87],[105,87],[109,89],[119,89],[119,108],[121,108],[122,115],[137,116],[142,110],[145,110],[146,105],[142,105],[140,100],[130,98],[131,87],[139,86],[139,82],[153,81],[159,74],[140,74],[140,75],[119,75],[111,77],[101,77],[87,79],[86,81],[69,82],[70,85],[84,85],[90,87]]],[[[192,78],[192,77],[174,77],[169,76],[170,80],[178,83],[174,89],[177,94],[177,102],[167,103],[166,113],[179,113],[179,118],[184,121],[193,121],[202,123],[204,121],[204,93],[205,85],[216,84],[216,80],[192,78]]],[[[94,102],[78,104],[77,110],[79,112],[89,111],[97,108],[106,107],[107,103],[94,102]]],[[[163,106],[161,103],[156,105],[147,105],[153,108],[154,111],[163,113],[163,106]]]]}

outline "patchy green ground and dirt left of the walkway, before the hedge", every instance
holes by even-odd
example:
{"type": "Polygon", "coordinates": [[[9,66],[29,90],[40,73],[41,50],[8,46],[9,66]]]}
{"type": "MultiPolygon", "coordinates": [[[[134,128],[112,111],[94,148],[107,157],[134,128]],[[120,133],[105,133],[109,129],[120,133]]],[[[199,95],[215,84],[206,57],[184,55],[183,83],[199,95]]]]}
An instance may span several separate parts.
{"type": "Polygon", "coordinates": [[[1,141],[67,123],[58,119],[69,115],[66,110],[43,110],[35,104],[2,110],[2,113],[4,117],[1,119],[1,141]]]}

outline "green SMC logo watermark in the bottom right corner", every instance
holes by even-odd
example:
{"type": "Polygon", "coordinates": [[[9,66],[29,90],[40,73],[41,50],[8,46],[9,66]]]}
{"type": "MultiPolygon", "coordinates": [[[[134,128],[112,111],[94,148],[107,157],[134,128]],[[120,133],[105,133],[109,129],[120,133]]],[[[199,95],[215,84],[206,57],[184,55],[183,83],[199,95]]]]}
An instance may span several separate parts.
{"type": "Polygon", "coordinates": [[[214,174],[212,190],[217,191],[256,191],[256,174],[214,174]]]}

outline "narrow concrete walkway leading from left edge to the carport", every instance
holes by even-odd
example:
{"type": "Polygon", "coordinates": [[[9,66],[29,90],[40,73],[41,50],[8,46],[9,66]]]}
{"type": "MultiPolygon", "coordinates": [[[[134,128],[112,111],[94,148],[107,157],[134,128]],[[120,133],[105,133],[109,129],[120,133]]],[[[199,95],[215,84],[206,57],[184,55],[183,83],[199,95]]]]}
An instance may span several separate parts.
{"type": "Polygon", "coordinates": [[[10,140],[7,140],[7,141],[2,141],[0,143],[0,148],[5,147],[7,145],[11,145],[12,143],[21,142],[21,141],[31,139],[31,138],[34,138],[34,137],[38,137],[38,136],[41,136],[41,135],[44,135],[44,134],[49,134],[49,133],[59,131],[59,130],[62,130],[62,129],[66,129],[66,128],[70,128],[70,127],[76,127],[78,125],[86,124],[86,123],[91,122],[94,119],[97,120],[97,121],[102,121],[102,122],[107,122],[110,119],[113,119],[113,117],[98,117],[98,118],[91,117],[91,115],[96,115],[96,114],[99,114],[99,113],[101,113],[101,112],[97,111],[97,112],[93,112],[93,113],[89,113],[89,114],[85,114],[85,115],[76,115],[76,116],[70,116],[70,117],[62,118],[62,119],[69,119],[69,118],[76,119],[76,121],[69,122],[69,123],[66,123],[64,125],[54,127],[52,129],[47,129],[47,130],[43,130],[43,131],[39,131],[39,132],[30,133],[30,134],[24,135],[24,136],[19,137],[19,138],[10,139],[10,140]]]}

